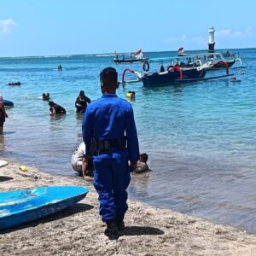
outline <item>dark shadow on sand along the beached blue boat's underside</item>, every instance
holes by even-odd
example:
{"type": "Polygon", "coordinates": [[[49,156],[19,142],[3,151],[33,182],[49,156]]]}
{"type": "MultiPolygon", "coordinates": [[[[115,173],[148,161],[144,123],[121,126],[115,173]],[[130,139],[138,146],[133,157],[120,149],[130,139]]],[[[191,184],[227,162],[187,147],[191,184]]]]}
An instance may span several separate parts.
{"type": "Polygon", "coordinates": [[[38,224],[44,224],[48,222],[52,222],[61,218],[66,218],[70,215],[79,213],[79,212],[86,212],[89,211],[93,208],[91,205],[87,204],[75,204],[74,206],[67,207],[66,209],[63,209],[61,212],[55,212],[54,214],[51,214],[45,218],[40,218],[38,220],[32,221],[31,223],[28,224],[22,224],[20,226],[17,226],[15,228],[9,229],[9,230],[2,230],[0,231],[0,234],[7,234],[14,232],[16,230],[23,230],[29,227],[36,227],[38,224]]]}

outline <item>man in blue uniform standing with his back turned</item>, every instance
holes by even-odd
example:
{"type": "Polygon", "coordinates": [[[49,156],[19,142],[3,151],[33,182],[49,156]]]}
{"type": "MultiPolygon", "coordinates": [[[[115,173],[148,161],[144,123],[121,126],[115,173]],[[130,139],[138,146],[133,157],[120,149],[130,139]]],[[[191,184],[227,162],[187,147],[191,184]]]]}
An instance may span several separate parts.
{"type": "Polygon", "coordinates": [[[94,138],[94,186],[99,194],[100,215],[107,224],[105,234],[117,235],[118,230],[125,229],[126,189],[131,181],[131,168],[137,166],[139,160],[139,147],[131,103],[115,94],[116,70],[107,67],[100,78],[102,97],[90,103],[84,114],[84,159],[90,158],[90,143],[94,138]]]}

